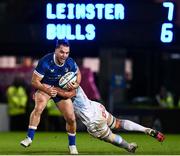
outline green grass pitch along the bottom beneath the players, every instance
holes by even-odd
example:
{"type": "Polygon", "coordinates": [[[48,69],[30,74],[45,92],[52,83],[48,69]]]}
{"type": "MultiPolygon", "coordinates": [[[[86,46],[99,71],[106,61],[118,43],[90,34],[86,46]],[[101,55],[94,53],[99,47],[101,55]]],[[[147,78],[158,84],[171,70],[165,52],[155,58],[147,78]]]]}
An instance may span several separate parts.
{"type": "MultiPolygon", "coordinates": [[[[0,133],[0,155],[67,155],[66,133],[37,132],[33,144],[28,148],[20,146],[25,132],[0,133]]],[[[180,154],[180,135],[166,135],[163,143],[144,134],[122,133],[121,136],[139,146],[137,155],[174,155],[180,154]]],[[[129,155],[124,149],[100,141],[87,133],[77,133],[79,154],[92,155],[129,155]]]]}

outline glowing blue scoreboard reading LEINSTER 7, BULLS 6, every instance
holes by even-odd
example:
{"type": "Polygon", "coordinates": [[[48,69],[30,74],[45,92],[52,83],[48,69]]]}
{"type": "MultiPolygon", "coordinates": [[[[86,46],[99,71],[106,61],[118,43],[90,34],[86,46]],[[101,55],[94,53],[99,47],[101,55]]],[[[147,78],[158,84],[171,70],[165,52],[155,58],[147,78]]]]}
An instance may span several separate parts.
{"type": "Polygon", "coordinates": [[[139,44],[176,41],[174,2],[54,1],[44,4],[47,40],[139,44]]]}

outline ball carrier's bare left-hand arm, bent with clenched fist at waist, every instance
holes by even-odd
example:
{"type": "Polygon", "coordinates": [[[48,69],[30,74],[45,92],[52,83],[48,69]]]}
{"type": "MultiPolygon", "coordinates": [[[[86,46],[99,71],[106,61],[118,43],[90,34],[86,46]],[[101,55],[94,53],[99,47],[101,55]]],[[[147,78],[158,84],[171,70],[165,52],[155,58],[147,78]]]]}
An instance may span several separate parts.
{"type": "Polygon", "coordinates": [[[41,83],[42,77],[38,76],[36,73],[33,73],[31,84],[34,88],[41,90],[45,93],[47,93],[49,96],[55,97],[57,94],[57,91],[54,89],[54,87],[45,85],[41,83]]]}

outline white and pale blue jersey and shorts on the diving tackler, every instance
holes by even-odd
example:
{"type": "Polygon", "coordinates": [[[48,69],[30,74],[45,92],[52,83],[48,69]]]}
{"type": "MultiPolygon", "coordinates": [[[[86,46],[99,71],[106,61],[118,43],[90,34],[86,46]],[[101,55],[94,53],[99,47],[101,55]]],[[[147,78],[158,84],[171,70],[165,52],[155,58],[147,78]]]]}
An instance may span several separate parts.
{"type": "Polygon", "coordinates": [[[75,114],[87,126],[91,135],[103,138],[110,132],[107,125],[109,113],[102,104],[89,100],[81,87],[77,89],[73,105],[75,114]]]}

